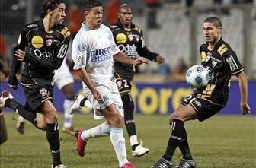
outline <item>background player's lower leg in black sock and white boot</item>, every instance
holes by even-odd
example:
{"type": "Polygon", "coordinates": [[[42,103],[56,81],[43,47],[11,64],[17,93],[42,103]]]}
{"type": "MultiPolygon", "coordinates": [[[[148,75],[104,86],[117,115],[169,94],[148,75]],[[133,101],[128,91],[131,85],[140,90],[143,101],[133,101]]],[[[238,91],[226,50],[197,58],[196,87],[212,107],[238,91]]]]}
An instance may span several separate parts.
{"type": "Polygon", "coordinates": [[[130,93],[123,94],[123,109],[124,109],[124,122],[128,135],[130,137],[130,144],[132,146],[132,153],[134,157],[141,157],[143,155],[149,154],[149,148],[142,147],[142,141],[139,144],[136,135],[136,125],[134,122],[133,111],[134,103],[130,96],[130,93]]]}

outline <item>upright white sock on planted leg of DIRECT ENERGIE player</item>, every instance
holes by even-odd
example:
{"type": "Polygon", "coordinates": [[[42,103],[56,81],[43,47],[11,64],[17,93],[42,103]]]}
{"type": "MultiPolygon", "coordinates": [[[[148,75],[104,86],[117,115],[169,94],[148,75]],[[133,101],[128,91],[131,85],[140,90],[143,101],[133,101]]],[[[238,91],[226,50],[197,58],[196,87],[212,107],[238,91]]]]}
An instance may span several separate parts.
{"type": "Polygon", "coordinates": [[[123,128],[110,128],[110,140],[117,154],[119,166],[123,166],[128,162],[125,139],[123,138],[123,128]]]}

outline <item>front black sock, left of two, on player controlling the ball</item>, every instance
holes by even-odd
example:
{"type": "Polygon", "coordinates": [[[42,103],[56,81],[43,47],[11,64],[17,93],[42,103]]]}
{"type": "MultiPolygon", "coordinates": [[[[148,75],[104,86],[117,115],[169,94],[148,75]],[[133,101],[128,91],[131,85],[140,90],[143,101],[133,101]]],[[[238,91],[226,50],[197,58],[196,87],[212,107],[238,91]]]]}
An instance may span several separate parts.
{"type": "Polygon", "coordinates": [[[162,156],[165,160],[171,161],[171,158],[176,150],[176,147],[180,143],[181,139],[184,138],[184,122],[178,119],[174,119],[171,122],[171,137],[168,141],[165,154],[162,156]]]}

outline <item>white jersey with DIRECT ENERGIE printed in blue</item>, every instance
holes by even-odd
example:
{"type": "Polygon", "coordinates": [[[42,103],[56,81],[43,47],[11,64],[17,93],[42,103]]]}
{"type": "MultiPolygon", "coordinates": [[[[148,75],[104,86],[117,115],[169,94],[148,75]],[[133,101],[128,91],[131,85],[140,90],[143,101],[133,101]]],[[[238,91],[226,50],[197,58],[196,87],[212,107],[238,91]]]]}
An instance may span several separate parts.
{"type": "Polygon", "coordinates": [[[85,68],[94,86],[108,85],[114,73],[113,55],[118,52],[108,27],[101,24],[97,30],[90,30],[84,22],[72,44],[74,69],[85,68]]]}

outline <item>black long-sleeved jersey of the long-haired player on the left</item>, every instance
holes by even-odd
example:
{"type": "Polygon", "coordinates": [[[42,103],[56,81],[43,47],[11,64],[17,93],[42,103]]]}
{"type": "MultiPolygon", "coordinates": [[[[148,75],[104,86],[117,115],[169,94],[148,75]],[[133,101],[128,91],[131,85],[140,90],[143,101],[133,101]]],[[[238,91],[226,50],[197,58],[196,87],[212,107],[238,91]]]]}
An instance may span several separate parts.
{"type": "MultiPolygon", "coordinates": [[[[18,49],[25,51],[21,81],[29,83],[34,78],[52,80],[54,70],[62,65],[66,56],[69,40],[69,29],[62,24],[56,24],[52,33],[44,30],[43,20],[27,24],[21,30],[18,45],[14,47],[14,52],[18,49]]],[[[16,78],[20,67],[21,62],[13,56],[9,78],[16,78]]]]}

